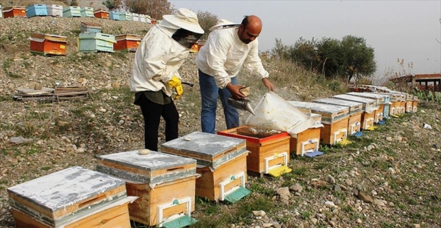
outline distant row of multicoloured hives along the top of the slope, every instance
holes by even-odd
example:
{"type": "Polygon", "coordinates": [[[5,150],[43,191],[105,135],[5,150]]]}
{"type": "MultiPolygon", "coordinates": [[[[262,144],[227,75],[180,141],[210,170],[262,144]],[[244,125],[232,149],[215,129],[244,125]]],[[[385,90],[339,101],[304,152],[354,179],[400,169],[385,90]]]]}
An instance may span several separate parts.
{"type": "MultiPolygon", "coordinates": [[[[100,19],[112,19],[116,21],[141,21],[156,24],[155,19],[149,15],[135,14],[127,11],[107,11],[105,9],[93,9],[92,7],[59,6],[55,4],[33,4],[31,6],[9,6],[4,9],[0,6],[3,17],[27,17],[55,16],[55,17],[92,17],[100,19]]],[[[1,17],[2,14],[0,14],[1,17]]]]}

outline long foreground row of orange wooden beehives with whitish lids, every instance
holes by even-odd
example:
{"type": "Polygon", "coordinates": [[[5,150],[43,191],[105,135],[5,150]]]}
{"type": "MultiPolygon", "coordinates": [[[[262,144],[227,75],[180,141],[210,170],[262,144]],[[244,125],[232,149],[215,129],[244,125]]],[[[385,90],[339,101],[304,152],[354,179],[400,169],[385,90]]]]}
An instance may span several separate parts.
{"type": "Polygon", "coordinates": [[[184,227],[195,196],[236,202],[250,191],[248,174],[290,172],[290,152],[307,155],[348,134],[371,129],[390,115],[415,112],[413,96],[385,88],[347,93],[312,103],[289,101],[324,125],[292,138],[250,126],[217,135],[191,133],[161,145],[161,152],[98,155],[97,172],[71,167],[8,189],[17,227],[129,227],[129,219],[159,227],[184,227]],[[317,131],[318,130],[318,131],[317,131]],[[132,202],[133,201],[133,202],[132,202]]]}

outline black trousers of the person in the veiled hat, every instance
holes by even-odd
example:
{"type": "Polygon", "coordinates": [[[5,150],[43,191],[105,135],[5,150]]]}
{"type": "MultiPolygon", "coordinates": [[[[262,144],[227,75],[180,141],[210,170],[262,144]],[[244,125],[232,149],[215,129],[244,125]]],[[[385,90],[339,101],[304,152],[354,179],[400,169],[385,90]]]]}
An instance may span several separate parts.
{"type": "Polygon", "coordinates": [[[139,97],[139,107],[144,117],[144,141],[146,149],[158,151],[158,129],[161,116],[164,118],[166,141],[178,138],[179,113],[171,103],[159,105],[147,99],[144,94],[139,97]]]}

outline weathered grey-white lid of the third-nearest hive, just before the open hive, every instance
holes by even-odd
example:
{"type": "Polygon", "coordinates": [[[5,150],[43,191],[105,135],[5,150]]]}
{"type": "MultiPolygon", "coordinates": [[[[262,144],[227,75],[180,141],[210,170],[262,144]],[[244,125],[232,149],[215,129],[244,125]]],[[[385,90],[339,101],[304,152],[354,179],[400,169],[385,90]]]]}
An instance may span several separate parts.
{"type": "Polygon", "coordinates": [[[194,132],[165,142],[161,151],[192,157],[198,165],[216,168],[246,152],[246,140],[223,135],[194,132]]]}

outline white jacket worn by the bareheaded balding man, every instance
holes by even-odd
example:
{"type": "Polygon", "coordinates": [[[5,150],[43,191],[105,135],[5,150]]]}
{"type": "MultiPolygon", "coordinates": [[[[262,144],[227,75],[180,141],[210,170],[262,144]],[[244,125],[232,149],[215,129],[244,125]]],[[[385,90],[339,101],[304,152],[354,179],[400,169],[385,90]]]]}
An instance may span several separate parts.
{"type": "Polygon", "coordinates": [[[250,70],[257,79],[267,78],[269,73],[263,68],[259,57],[259,41],[243,43],[238,37],[238,27],[216,29],[199,50],[196,65],[209,76],[213,76],[219,88],[225,88],[240,68],[250,70]]]}

